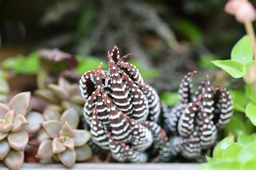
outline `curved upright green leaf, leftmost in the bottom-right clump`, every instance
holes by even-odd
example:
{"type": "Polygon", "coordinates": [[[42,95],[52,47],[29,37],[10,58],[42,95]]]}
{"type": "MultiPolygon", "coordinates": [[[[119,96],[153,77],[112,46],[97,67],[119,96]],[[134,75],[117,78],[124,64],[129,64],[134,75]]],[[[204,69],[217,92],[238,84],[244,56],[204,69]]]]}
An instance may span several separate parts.
{"type": "Polygon", "coordinates": [[[228,136],[221,140],[213,150],[213,158],[214,159],[223,159],[223,154],[226,148],[233,144],[234,136],[228,136]]]}

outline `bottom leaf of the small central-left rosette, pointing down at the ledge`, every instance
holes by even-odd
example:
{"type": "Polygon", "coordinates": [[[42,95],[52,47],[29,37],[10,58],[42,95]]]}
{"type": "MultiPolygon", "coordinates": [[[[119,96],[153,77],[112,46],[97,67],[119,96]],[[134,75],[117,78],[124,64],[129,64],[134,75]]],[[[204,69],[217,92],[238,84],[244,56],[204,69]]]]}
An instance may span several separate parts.
{"type": "Polygon", "coordinates": [[[67,148],[64,152],[58,153],[59,160],[67,167],[72,167],[76,162],[76,152],[67,148]]]}

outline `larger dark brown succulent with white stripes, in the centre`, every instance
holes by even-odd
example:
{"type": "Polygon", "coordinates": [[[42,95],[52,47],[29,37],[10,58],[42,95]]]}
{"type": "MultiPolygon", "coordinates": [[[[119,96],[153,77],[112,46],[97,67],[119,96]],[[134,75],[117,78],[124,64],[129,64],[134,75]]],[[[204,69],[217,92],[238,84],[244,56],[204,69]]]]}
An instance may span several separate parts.
{"type": "Polygon", "coordinates": [[[114,46],[112,53],[107,53],[109,70],[102,70],[100,63],[96,70],[82,76],[84,119],[90,125],[93,143],[110,150],[113,159],[145,162],[145,151],[153,145],[159,160],[165,160],[170,147],[157,124],[158,94],[144,82],[136,66],[123,61],[129,55],[120,58],[114,46]]]}

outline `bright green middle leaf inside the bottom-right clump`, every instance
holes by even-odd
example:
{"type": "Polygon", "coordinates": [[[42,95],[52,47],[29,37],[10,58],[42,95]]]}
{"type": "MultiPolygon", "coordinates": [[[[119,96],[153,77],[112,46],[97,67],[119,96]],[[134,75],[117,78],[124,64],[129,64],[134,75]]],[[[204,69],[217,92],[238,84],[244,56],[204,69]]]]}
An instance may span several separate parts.
{"type": "Polygon", "coordinates": [[[224,159],[230,159],[230,158],[236,158],[237,155],[245,148],[244,145],[233,143],[232,145],[228,146],[226,150],[224,151],[223,158],[224,159]]]}

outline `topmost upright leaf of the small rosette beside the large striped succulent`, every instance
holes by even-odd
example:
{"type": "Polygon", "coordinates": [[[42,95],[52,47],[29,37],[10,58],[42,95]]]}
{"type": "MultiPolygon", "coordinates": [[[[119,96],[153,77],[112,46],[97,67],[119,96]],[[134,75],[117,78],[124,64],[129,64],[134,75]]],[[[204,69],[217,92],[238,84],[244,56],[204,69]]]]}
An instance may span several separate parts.
{"type": "Polygon", "coordinates": [[[79,113],[74,108],[65,110],[60,118],[60,122],[63,124],[68,122],[72,129],[76,129],[79,123],[79,113]]]}

